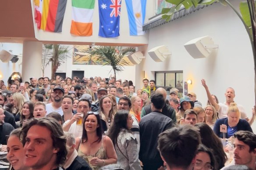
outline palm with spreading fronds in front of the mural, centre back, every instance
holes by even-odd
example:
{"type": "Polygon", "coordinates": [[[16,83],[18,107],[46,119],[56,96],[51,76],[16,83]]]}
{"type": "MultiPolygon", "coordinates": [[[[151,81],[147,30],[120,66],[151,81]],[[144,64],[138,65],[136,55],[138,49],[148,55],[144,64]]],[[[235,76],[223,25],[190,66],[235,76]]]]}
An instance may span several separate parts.
{"type": "Polygon", "coordinates": [[[114,71],[115,78],[116,73],[123,71],[124,66],[129,64],[124,60],[124,57],[133,52],[135,52],[134,47],[121,49],[121,47],[115,46],[96,46],[88,51],[90,58],[96,57],[96,62],[102,62],[103,66],[110,65],[114,71]]]}

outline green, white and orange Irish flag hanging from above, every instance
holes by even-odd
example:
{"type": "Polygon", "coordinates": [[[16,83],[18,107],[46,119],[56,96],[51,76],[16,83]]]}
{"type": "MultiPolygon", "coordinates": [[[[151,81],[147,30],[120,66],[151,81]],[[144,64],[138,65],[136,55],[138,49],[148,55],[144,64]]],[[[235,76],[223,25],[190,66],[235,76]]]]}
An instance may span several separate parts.
{"type": "Polygon", "coordinates": [[[78,36],[92,35],[92,15],[95,0],[72,0],[70,33],[78,36]]]}

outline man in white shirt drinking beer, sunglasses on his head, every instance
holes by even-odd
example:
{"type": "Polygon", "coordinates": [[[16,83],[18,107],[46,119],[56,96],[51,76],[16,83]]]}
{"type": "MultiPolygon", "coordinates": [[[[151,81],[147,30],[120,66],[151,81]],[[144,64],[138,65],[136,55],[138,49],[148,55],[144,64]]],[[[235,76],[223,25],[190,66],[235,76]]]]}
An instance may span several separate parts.
{"type": "MultiPolygon", "coordinates": [[[[88,111],[91,111],[91,102],[88,99],[80,99],[77,106],[77,114],[74,114],[70,120],[67,120],[63,124],[63,130],[65,132],[72,133],[75,138],[82,136],[83,125],[78,121],[85,117],[88,111]]],[[[81,120],[80,120],[81,121],[81,120]]]]}

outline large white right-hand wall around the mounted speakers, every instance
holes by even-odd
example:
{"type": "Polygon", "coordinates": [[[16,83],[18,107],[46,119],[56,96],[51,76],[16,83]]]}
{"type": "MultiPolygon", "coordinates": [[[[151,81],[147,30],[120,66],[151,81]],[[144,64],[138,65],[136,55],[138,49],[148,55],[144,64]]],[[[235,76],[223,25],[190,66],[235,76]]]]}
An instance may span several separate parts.
{"type": "MultiPolygon", "coordinates": [[[[236,8],[238,3],[238,0],[232,1],[236,8]]],[[[140,69],[138,73],[145,70],[145,75],[154,79],[153,71],[183,70],[183,79],[192,79],[188,92],[195,92],[203,106],[207,97],[201,79],[206,80],[210,92],[217,95],[220,102],[225,101],[226,88],[233,87],[235,102],[242,104],[251,116],[254,105],[252,49],[242,22],[230,7],[216,3],[151,29],[146,51],[159,45],[167,45],[172,56],[165,62],[154,62],[146,53],[145,61],[136,67],[140,69]],[[206,35],[219,45],[217,53],[205,59],[193,59],[183,45],[206,35]]]]}

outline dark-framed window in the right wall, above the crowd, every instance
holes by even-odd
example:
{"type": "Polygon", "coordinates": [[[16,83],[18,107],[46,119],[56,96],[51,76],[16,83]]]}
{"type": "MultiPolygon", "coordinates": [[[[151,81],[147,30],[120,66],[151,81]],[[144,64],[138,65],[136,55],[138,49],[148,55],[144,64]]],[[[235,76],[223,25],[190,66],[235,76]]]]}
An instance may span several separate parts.
{"type": "Polygon", "coordinates": [[[155,77],[157,87],[163,87],[167,93],[176,87],[183,94],[183,71],[156,71],[155,77]]]}

